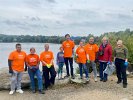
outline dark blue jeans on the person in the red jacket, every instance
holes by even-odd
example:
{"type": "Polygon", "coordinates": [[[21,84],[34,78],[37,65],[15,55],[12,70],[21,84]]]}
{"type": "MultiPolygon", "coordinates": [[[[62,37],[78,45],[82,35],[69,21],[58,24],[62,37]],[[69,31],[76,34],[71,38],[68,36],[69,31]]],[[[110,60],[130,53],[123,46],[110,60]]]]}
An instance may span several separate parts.
{"type": "Polygon", "coordinates": [[[100,79],[101,80],[107,80],[108,75],[103,73],[103,71],[106,69],[106,67],[107,67],[107,62],[100,62],[99,71],[100,71],[100,79]]]}

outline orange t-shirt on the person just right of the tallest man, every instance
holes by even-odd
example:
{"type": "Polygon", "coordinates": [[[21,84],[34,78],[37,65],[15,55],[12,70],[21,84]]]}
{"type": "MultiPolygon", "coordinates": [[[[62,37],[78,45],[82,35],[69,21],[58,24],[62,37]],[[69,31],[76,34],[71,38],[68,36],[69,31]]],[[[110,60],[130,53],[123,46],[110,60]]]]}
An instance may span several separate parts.
{"type": "Polygon", "coordinates": [[[76,49],[76,54],[78,56],[77,60],[78,60],[78,63],[83,63],[85,64],[86,63],[86,60],[87,60],[87,57],[86,57],[86,52],[85,52],[85,49],[84,47],[78,47],[76,49]]]}

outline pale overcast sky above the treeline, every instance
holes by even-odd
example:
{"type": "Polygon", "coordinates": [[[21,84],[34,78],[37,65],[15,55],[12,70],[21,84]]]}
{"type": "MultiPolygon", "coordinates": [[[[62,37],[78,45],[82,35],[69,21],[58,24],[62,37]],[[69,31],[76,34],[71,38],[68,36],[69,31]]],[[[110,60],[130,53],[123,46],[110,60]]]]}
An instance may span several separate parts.
{"type": "Polygon", "coordinates": [[[133,30],[133,0],[0,0],[0,34],[100,35],[133,30]]]}

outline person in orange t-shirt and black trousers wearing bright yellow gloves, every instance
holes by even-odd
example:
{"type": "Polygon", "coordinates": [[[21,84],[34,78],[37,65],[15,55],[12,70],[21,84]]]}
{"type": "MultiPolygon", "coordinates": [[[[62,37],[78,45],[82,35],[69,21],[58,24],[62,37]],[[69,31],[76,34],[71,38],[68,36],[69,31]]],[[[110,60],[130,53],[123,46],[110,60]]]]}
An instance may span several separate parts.
{"type": "Polygon", "coordinates": [[[40,61],[42,62],[43,66],[43,76],[45,79],[45,88],[47,89],[50,84],[54,85],[55,77],[56,77],[56,71],[54,68],[54,56],[53,52],[49,51],[49,44],[45,44],[45,51],[43,51],[40,54],[40,61]],[[51,77],[49,79],[49,73],[51,74],[51,77]]]}

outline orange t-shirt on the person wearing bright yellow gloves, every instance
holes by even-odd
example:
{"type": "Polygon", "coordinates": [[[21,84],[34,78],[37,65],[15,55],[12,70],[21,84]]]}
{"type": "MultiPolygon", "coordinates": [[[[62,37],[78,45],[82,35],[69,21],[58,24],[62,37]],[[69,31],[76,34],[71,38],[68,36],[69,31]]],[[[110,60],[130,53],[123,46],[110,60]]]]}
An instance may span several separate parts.
{"type": "MultiPolygon", "coordinates": [[[[47,64],[50,64],[52,59],[54,59],[54,56],[53,56],[53,52],[51,52],[51,51],[44,51],[40,54],[40,61],[44,61],[47,64]]],[[[42,65],[46,66],[43,63],[42,63],[42,65]]]]}

